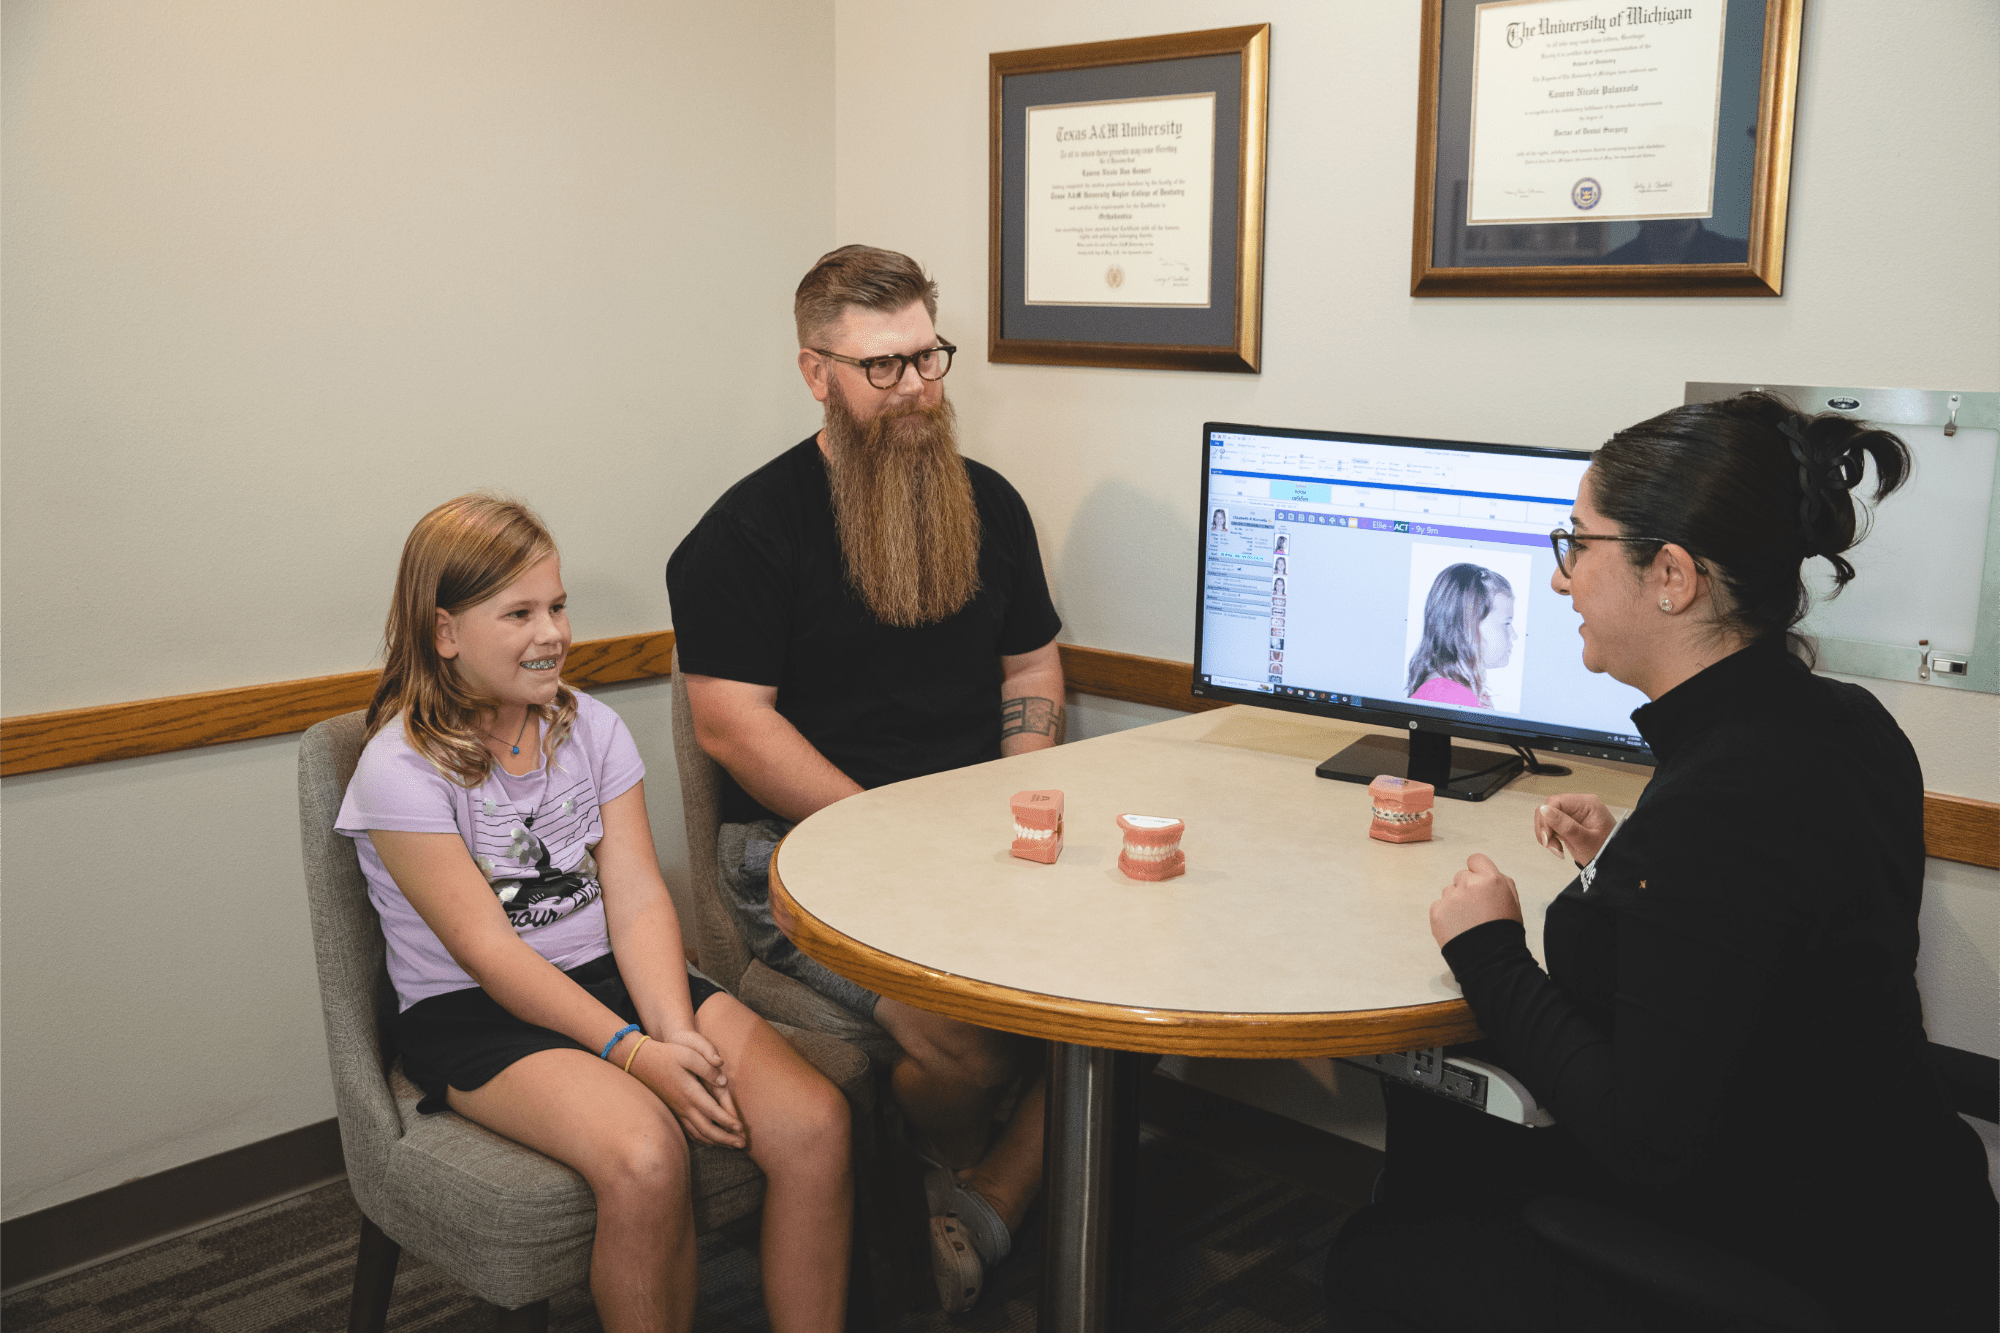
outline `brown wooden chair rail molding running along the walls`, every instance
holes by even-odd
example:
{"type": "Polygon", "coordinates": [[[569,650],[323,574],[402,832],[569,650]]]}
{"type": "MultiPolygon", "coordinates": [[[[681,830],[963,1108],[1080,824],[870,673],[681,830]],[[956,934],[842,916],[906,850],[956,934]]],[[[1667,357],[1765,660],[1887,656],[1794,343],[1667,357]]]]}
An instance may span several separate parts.
{"type": "MultiPolygon", "coordinates": [[[[564,679],[616,685],[664,677],[674,630],[586,638],[570,646],[564,679]]],[[[1164,656],[1062,644],[1062,671],[1078,695],[1200,713],[1224,705],[1188,693],[1194,669],[1164,656]]],[[[366,709],[374,671],[308,681],[274,681],[234,691],[140,699],[134,703],[28,713],[0,719],[0,777],[72,769],[108,759],[140,759],[230,741],[286,737],[322,719],[366,709]]],[[[2000,871],[2000,803],[1924,793],[1924,847],[1932,857],[2000,871]]]]}

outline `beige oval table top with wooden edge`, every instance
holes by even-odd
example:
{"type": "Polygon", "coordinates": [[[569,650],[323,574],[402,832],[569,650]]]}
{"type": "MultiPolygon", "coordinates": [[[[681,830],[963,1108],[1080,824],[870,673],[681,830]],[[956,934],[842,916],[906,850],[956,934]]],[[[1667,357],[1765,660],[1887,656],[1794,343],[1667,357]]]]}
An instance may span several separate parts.
{"type": "MultiPolygon", "coordinates": [[[[1358,1055],[1478,1035],[1430,939],[1474,851],[1542,909],[1574,877],[1534,841],[1544,795],[1630,807],[1648,769],[1554,757],[1484,803],[1440,801],[1428,843],[1368,837],[1368,789],[1314,775],[1380,733],[1218,709],[880,787],[798,825],[772,903],[808,955],[986,1027],[1124,1051],[1358,1055]],[[1062,789],[1056,865],[1008,855],[1008,797],[1062,789]],[[1122,813],[1186,821],[1188,873],[1118,871],[1122,813]]],[[[1496,753],[1498,755],[1498,753],[1496,753]]]]}

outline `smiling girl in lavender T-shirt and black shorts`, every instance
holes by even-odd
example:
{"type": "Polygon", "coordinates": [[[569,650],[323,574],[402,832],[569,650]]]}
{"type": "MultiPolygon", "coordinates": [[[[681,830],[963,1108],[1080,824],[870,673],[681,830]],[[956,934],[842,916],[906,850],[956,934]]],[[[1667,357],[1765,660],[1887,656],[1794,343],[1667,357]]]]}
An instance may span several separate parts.
{"type": "Polygon", "coordinates": [[[766,1177],[772,1327],[838,1329],[846,1101],[686,971],[632,735],[560,679],[564,600],[554,540],[512,500],[440,504],[402,548],[338,829],[382,917],[418,1109],[450,1107],[590,1183],[608,1333],[690,1327],[686,1139],[748,1151],[766,1177]]]}

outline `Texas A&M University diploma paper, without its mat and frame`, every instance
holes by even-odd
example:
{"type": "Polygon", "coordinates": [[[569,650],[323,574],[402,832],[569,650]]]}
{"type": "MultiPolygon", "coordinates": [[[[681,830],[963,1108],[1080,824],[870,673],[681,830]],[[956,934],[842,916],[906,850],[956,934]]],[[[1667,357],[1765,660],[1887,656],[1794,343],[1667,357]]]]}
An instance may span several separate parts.
{"type": "Polygon", "coordinates": [[[1028,108],[1026,302],[1206,306],[1216,94],[1028,108]]]}

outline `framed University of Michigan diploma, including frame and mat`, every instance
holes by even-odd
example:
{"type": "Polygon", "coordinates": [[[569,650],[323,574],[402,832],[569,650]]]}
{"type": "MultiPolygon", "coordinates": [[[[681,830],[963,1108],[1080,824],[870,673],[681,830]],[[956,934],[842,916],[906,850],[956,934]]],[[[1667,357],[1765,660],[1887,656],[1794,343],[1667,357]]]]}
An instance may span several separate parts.
{"type": "Polygon", "coordinates": [[[1412,296],[1778,296],[1804,0],[1424,0],[1412,296]]]}

